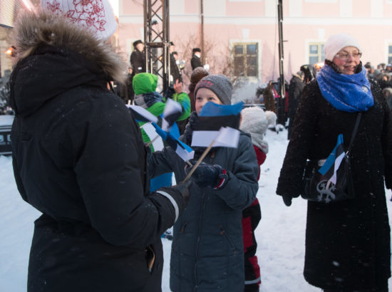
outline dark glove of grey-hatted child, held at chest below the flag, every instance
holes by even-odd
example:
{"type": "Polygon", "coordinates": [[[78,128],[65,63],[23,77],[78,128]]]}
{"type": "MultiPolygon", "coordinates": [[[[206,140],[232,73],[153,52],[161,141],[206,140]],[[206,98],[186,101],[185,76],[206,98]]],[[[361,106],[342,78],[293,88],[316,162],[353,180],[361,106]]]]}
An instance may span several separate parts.
{"type": "MultiPolygon", "coordinates": [[[[196,164],[194,160],[190,160],[190,163],[192,165],[196,164]]],[[[188,174],[192,167],[185,167],[185,174],[188,174]]],[[[201,162],[190,177],[190,180],[199,187],[213,187],[215,189],[222,188],[226,184],[227,179],[226,171],[220,165],[208,165],[205,162],[201,162]]]]}

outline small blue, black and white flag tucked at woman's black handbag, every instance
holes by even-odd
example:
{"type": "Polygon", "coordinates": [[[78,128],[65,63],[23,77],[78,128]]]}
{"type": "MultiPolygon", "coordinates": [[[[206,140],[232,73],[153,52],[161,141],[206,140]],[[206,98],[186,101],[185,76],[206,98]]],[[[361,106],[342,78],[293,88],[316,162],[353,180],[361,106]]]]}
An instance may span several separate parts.
{"type": "Polygon", "coordinates": [[[319,172],[334,184],[336,184],[336,172],[341,165],[344,155],[346,155],[346,152],[344,152],[343,148],[343,134],[339,134],[334,150],[332,150],[324,165],[319,169],[319,172]]]}

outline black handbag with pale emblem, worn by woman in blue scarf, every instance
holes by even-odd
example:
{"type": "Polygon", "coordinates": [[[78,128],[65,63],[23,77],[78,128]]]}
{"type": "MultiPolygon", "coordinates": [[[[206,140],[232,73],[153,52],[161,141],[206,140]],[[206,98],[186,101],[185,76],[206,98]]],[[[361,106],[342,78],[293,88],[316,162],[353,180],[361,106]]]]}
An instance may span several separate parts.
{"type": "Polygon", "coordinates": [[[301,197],[309,201],[331,203],[343,201],[346,199],[354,199],[354,182],[351,172],[350,163],[350,151],[356,136],[356,132],[359,127],[359,121],[361,120],[361,113],[356,117],[356,123],[354,126],[353,133],[349,148],[344,155],[343,160],[336,172],[336,184],[329,181],[323,174],[319,172],[320,167],[325,160],[308,160],[306,162],[304,172],[304,194],[301,197]]]}

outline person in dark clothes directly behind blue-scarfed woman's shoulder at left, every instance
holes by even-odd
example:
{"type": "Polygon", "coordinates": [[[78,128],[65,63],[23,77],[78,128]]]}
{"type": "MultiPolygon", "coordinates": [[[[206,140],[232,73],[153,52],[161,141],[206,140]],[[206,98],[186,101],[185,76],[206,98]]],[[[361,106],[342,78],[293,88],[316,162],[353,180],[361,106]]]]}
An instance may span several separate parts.
{"type": "Polygon", "coordinates": [[[290,134],[292,132],[293,122],[295,118],[296,108],[298,108],[299,98],[301,98],[301,92],[304,90],[304,73],[299,71],[293,74],[292,80],[290,80],[289,85],[289,128],[288,139],[290,139],[290,134]]]}

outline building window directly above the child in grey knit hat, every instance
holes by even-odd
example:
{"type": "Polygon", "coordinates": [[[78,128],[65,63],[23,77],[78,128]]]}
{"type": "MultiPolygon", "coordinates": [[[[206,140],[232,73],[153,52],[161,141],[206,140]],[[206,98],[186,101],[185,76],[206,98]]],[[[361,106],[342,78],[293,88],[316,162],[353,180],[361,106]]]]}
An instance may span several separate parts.
{"type": "Polygon", "coordinates": [[[259,50],[257,43],[234,43],[234,75],[239,77],[257,77],[259,50]]]}

